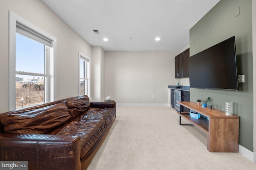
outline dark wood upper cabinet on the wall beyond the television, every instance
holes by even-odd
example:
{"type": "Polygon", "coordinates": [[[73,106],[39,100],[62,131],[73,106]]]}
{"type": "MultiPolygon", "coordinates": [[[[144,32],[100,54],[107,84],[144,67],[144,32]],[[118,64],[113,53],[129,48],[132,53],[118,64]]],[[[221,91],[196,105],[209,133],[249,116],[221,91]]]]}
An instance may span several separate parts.
{"type": "Polygon", "coordinates": [[[175,57],[175,78],[188,77],[189,48],[175,57]]]}

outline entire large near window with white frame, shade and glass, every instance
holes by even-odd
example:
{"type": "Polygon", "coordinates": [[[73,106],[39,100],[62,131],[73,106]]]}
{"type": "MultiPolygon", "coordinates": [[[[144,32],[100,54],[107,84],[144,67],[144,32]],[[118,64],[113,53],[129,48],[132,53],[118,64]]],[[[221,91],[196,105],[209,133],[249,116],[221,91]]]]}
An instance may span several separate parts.
{"type": "Polygon", "coordinates": [[[56,38],[9,16],[9,110],[54,101],[56,38]]]}

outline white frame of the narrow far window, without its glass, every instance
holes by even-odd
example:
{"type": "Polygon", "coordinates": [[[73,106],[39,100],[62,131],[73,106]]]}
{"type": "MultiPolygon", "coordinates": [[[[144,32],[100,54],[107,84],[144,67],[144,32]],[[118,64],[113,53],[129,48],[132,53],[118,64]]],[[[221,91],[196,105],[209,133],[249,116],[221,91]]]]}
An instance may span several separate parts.
{"type": "Polygon", "coordinates": [[[88,61],[88,65],[86,66],[86,78],[85,80],[87,80],[87,96],[90,98],[90,58],[87,57],[86,55],[78,52],[78,94],[79,96],[81,95],[80,94],[80,80],[83,79],[81,78],[81,75],[80,75],[80,59],[82,59],[83,61],[88,61]]]}

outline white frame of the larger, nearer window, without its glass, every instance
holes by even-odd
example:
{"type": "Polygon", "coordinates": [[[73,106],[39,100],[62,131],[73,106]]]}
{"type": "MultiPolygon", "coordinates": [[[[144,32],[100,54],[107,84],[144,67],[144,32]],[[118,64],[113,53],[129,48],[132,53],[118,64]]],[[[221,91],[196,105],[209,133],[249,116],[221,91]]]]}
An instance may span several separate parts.
{"type": "Polygon", "coordinates": [[[26,21],[20,16],[16,15],[14,12],[9,11],[9,86],[8,86],[8,110],[12,111],[16,109],[16,25],[17,23],[22,24],[39,35],[43,35],[52,41],[52,55],[49,55],[49,86],[47,90],[46,102],[52,102],[56,100],[56,37],[50,35],[49,33],[43,31],[42,29],[36,27],[32,23],[26,21]]]}

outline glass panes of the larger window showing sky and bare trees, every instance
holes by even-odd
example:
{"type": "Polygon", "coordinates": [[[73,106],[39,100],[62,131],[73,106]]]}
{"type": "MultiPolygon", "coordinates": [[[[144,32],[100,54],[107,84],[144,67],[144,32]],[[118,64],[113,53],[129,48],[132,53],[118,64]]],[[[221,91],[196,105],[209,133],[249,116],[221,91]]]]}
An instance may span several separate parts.
{"type": "Polygon", "coordinates": [[[50,47],[16,33],[16,109],[47,101],[49,53],[50,47]]]}

